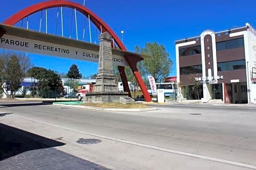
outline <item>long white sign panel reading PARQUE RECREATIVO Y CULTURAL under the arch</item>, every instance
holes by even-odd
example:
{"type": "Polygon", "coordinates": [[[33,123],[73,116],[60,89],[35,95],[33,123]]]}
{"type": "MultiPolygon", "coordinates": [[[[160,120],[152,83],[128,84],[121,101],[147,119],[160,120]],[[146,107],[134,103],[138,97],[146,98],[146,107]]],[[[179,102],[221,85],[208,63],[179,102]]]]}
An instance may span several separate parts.
{"type": "MultiPolygon", "coordinates": [[[[0,38],[0,48],[92,62],[98,62],[99,60],[99,52],[96,51],[84,50],[82,48],[59,45],[7,34],[0,38]]],[[[123,56],[113,55],[112,57],[114,65],[128,66],[128,63],[123,56]]]]}

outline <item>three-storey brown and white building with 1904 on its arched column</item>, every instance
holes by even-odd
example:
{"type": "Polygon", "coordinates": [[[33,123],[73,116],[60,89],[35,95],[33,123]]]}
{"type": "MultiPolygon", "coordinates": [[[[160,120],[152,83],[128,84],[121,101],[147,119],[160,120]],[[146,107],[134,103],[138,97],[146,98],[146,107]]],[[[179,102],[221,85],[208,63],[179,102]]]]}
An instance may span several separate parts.
{"type": "Polygon", "coordinates": [[[176,41],[183,100],[256,103],[256,31],[245,27],[176,41]]]}

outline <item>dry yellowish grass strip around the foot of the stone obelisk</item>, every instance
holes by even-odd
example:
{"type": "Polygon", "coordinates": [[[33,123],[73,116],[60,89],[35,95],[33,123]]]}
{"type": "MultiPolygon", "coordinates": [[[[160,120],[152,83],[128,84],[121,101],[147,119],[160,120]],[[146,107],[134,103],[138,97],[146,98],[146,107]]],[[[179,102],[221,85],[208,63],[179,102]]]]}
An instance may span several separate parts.
{"type": "Polygon", "coordinates": [[[82,106],[91,106],[91,107],[99,107],[99,108],[116,108],[116,109],[143,109],[149,108],[148,106],[142,103],[83,103],[82,106]]]}

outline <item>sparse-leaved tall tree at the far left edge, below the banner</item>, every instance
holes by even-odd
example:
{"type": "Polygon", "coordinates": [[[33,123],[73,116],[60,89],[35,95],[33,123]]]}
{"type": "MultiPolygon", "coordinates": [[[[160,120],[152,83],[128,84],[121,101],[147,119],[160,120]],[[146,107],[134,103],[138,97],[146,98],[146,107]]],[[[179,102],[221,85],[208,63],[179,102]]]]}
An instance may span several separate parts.
{"type": "Polygon", "coordinates": [[[0,87],[3,90],[3,83],[10,85],[11,97],[19,87],[20,81],[25,77],[27,70],[31,67],[28,56],[22,53],[3,51],[0,54],[0,87]]]}

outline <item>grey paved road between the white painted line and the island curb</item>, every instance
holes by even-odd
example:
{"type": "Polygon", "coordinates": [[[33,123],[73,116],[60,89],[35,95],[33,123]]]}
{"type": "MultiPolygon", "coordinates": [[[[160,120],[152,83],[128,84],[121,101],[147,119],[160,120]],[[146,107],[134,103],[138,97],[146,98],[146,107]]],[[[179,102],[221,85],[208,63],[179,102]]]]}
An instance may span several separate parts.
{"type": "MultiPolygon", "coordinates": [[[[199,155],[196,157],[199,159],[216,158],[218,160],[215,162],[233,161],[238,165],[239,163],[256,164],[255,107],[210,105],[155,107],[161,110],[131,113],[102,112],[40,103],[0,102],[1,112],[12,113],[11,116],[32,119],[39,123],[118,139],[116,141],[131,141],[135,145],[145,144],[144,148],[158,147],[154,149],[182,152],[178,153],[180,155],[194,154],[192,157],[199,155]]],[[[112,149],[112,152],[115,151],[112,149]]],[[[167,157],[163,160],[168,161],[167,157]]],[[[201,166],[203,167],[203,164],[201,166]]],[[[211,167],[215,169],[214,166],[211,167]]],[[[230,169],[234,168],[232,166],[230,169]]],[[[239,166],[236,168],[241,169],[239,166]]]]}

